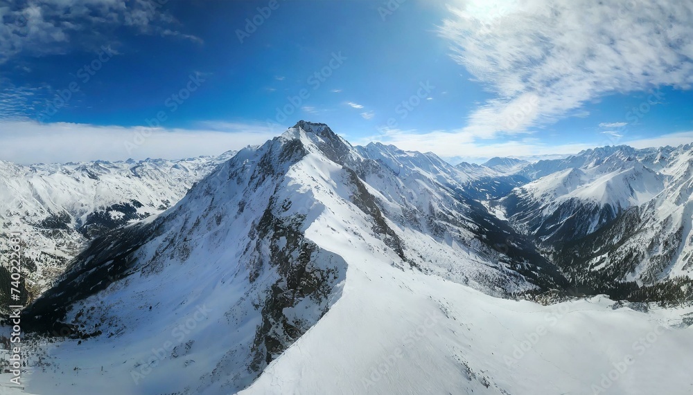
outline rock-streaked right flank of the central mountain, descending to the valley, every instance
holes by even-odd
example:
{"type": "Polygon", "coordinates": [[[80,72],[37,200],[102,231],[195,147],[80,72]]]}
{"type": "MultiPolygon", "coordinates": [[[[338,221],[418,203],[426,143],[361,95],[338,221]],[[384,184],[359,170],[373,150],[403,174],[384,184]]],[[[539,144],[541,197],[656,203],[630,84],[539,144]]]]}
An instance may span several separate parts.
{"type": "Polygon", "coordinates": [[[527,279],[540,286],[562,284],[562,276],[531,243],[469,196],[473,178],[468,174],[433,154],[379,144],[356,150],[361,157],[344,165],[354,169],[383,215],[397,225],[401,245],[412,250],[406,259],[418,267],[498,295],[526,290],[527,279]],[[460,256],[475,261],[476,268],[462,264],[460,256]],[[528,278],[513,278],[517,274],[528,278]]]}

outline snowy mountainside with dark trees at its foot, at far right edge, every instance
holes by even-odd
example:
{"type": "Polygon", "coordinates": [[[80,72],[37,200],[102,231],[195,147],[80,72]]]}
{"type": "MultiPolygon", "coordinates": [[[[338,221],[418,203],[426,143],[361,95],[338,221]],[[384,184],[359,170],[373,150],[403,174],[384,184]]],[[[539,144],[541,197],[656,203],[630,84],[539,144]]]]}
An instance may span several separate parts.
{"type": "Polygon", "coordinates": [[[667,176],[662,192],[624,212],[601,232],[573,241],[556,253],[555,260],[584,273],[586,282],[599,278],[633,282],[638,286],[665,283],[671,288],[667,292],[690,288],[687,284],[693,278],[691,147],[682,146],[671,152],[669,165],[662,173],[667,176]]]}

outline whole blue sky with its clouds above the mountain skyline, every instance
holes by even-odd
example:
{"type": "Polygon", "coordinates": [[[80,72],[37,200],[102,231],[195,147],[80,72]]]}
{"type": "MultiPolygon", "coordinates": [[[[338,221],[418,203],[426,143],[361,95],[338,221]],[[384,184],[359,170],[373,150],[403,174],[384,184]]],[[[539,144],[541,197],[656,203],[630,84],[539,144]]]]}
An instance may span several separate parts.
{"type": "Polygon", "coordinates": [[[10,1],[0,159],[219,154],[300,119],[452,161],[688,143],[692,15],[688,1],[10,1]]]}

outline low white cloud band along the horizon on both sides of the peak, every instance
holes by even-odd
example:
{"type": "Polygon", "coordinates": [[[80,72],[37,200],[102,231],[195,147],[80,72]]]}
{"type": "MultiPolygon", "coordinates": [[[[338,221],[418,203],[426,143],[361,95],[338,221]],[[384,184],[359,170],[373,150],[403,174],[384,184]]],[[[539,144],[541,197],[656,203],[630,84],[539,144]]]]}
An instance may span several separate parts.
{"type": "MultiPolygon", "coordinates": [[[[0,122],[0,160],[30,163],[65,163],[85,160],[125,160],[128,158],[188,158],[221,154],[229,149],[262,144],[281,134],[279,125],[251,125],[242,122],[200,122],[198,129],[150,129],[143,127],[95,126],[73,123],[40,124],[34,121],[0,122]],[[141,140],[138,134],[148,135],[141,140]],[[141,144],[137,144],[141,143],[141,144]],[[128,145],[130,146],[128,151],[128,145]]],[[[583,149],[614,145],[605,138],[596,144],[575,143],[552,145],[536,138],[511,140],[484,145],[456,131],[386,130],[379,136],[352,140],[354,144],[371,141],[394,144],[411,151],[432,151],[442,158],[459,158],[482,162],[493,156],[530,157],[577,154],[583,149]]],[[[693,142],[693,131],[667,134],[656,138],[635,138],[618,144],[631,147],[677,146],[693,142]]]]}

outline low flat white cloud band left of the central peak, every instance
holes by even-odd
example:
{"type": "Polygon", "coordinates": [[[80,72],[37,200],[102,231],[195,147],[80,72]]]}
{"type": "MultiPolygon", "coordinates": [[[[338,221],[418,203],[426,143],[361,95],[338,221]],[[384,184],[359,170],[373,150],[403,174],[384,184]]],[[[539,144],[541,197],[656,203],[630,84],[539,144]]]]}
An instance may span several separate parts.
{"type": "Polygon", "coordinates": [[[262,144],[281,132],[234,122],[202,122],[200,129],[189,130],[10,121],[0,123],[0,160],[30,164],[188,158],[262,144]],[[138,134],[148,137],[140,140],[138,134]]]}

